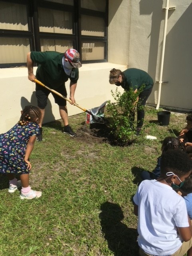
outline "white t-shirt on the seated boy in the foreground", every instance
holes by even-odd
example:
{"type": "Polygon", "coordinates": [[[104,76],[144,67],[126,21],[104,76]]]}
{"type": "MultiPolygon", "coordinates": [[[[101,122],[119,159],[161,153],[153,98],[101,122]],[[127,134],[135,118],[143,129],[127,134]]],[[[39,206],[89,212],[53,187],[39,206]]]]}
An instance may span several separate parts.
{"type": "Polygon", "coordinates": [[[152,255],[176,252],[182,245],[176,227],[189,226],[184,199],[166,184],[144,180],[133,200],[139,206],[139,246],[152,255]]]}

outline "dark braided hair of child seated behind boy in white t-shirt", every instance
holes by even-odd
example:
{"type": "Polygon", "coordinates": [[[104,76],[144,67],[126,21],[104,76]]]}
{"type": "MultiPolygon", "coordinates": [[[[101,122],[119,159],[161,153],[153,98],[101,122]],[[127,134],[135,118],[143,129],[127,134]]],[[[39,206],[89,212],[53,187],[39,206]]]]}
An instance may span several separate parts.
{"type": "Polygon", "coordinates": [[[186,152],[186,146],[184,142],[180,142],[180,140],[176,137],[166,137],[162,142],[161,150],[165,152],[170,149],[180,149],[183,152],[186,152]]]}

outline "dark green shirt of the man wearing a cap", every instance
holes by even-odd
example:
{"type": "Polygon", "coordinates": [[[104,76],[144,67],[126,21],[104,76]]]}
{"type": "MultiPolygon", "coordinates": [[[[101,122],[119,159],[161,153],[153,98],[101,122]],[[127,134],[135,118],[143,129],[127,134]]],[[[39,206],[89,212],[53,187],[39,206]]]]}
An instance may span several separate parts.
{"type": "Polygon", "coordinates": [[[63,53],[46,51],[31,52],[31,59],[38,64],[36,78],[46,86],[56,89],[70,79],[71,82],[77,83],[79,79],[79,69],[73,68],[71,74],[65,74],[62,65],[63,53]]]}

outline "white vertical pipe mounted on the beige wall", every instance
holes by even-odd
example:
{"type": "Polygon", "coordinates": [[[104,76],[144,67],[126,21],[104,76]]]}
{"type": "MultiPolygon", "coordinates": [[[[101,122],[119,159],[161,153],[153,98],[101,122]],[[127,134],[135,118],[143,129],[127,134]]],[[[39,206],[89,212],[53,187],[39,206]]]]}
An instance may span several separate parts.
{"type": "Polygon", "coordinates": [[[165,41],[166,41],[166,31],[167,31],[168,10],[169,10],[169,0],[166,0],[162,55],[161,55],[161,64],[160,64],[160,78],[159,78],[159,82],[158,82],[159,83],[159,86],[158,86],[158,100],[157,100],[157,105],[156,105],[157,110],[158,110],[159,105],[160,105],[160,95],[161,95],[162,73],[163,73],[163,63],[164,63],[164,53],[165,53],[165,41]]]}

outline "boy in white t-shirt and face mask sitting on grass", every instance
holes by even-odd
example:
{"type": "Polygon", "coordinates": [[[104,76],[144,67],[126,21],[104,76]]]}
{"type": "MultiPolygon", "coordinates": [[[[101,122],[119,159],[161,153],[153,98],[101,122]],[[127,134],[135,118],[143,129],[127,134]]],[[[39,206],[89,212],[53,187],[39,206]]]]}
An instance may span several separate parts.
{"type": "Polygon", "coordinates": [[[191,174],[192,160],[181,150],[168,150],[160,160],[157,180],[144,180],[134,200],[140,256],[192,256],[192,226],[180,188],[191,174]]]}

